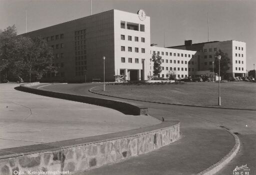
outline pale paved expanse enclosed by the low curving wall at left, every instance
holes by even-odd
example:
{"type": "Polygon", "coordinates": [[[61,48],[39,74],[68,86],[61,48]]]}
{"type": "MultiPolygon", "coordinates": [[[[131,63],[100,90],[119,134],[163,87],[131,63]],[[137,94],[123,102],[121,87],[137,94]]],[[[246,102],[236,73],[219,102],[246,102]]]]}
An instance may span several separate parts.
{"type": "Polygon", "coordinates": [[[151,116],[15,90],[0,84],[0,149],[129,130],[160,123],[151,116]],[[50,136],[49,136],[50,135],[50,136]]]}

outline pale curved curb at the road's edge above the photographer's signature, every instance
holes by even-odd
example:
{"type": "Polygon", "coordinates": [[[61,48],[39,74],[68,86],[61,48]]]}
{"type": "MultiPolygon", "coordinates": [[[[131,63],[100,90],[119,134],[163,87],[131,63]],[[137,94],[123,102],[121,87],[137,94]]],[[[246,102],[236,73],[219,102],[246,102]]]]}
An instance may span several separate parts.
{"type": "Polygon", "coordinates": [[[240,141],[237,135],[233,134],[229,130],[225,129],[227,132],[229,132],[231,135],[233,135],[235,139],[235,144],[233,148],[226,154],[221,160],[216,162],[215,164],[211,165],[207,169],[197,173],[197,175],[212,175],[219,171],[222,167],[224,167],[238,152],[240,147],[240,141]]]}

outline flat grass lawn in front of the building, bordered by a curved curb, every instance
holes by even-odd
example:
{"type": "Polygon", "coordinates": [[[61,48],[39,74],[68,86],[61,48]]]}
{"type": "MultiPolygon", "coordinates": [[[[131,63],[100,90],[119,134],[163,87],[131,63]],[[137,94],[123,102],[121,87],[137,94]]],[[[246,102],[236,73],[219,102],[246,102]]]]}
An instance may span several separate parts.
{"type": "MultiPolygon", "coordinates": [[[[158,85],[113,84],[106,85],[106,91],[104,92],[102,86],[95,87],[92,90],[118,97],[175,104],[217,106],[218,103],[217,82],[184,82],[158,85]]],[[[220,96],[222,107],[256,109],[256,83],[254,82],[221,82],[220,96]]]]}

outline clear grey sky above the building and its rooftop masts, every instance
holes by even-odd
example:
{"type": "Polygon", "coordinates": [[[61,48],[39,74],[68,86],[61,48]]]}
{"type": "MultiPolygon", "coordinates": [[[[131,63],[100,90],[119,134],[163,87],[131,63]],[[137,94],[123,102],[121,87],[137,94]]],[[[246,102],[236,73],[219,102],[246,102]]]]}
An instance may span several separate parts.
{"type": "MultiPolygon", "coordinates": [[[[209,41],[246,42],[246,69],[256,64],[256,0],[92,0],[92,14],[119,9],[150,16],[151,43],[158,46],[209,41]],[[165,39],[163,39],[165,37],[165,39]]],[[[90,0],[0,0],[0,29],[17,34],[90,15],[90,0]]]]}

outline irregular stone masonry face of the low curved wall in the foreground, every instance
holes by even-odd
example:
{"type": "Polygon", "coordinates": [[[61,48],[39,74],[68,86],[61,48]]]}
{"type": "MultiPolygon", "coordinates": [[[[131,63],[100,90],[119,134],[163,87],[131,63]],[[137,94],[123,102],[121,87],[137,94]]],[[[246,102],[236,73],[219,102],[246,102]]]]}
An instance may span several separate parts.
{"type": "MultiPolygon", "coordinates": [[[[176,141],[179,123],[123,138],[0,159],[0,174],[31,171],[83,171],[144,154],[176,141]]],[[[70,173],[72,174],[72,173],[70,173]]]]}

